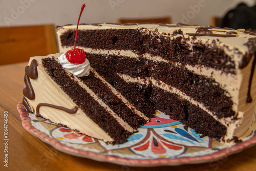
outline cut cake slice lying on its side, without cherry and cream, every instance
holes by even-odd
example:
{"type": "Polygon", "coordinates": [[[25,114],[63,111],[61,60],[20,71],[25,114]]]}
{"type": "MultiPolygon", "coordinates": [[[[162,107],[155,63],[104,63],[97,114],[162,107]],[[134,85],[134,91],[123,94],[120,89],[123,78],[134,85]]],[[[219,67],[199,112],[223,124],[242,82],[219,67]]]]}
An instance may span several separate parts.
{"type": "Polygon", "coordinates": [[[87,80],[63,69],[57,59],[60,55],[31,57],[26,68],[23,101],[29,112],[115,143],[125,142],[149,120],[93,69],[87,80]],[[36,73],[33,76],[32,70],[36,73]]]}

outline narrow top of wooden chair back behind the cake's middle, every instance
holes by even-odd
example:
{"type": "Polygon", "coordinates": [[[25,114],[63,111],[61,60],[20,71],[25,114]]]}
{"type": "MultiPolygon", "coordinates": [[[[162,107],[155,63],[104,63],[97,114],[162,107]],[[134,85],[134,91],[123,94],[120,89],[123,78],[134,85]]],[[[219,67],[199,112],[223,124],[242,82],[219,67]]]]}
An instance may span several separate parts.
{"type": "Polygon", "coordinates": [[[162,18],[120,18],[117,20],[119,24],[127,23],[171,23],[170,17],[162,18]]]}

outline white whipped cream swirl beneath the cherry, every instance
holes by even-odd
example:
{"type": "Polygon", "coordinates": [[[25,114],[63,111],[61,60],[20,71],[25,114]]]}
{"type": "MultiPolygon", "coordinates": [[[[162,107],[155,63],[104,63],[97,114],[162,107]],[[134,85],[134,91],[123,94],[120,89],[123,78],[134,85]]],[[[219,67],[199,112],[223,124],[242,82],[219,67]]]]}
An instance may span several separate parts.
{"type": "Polygon", "coordinates": [[[77,77],[88,76],[90,74],[90,62],[88,59],[79,65],[74,65],[67,59],[66,52],[62,53],[58,59],[63,68],[77,77]]]}

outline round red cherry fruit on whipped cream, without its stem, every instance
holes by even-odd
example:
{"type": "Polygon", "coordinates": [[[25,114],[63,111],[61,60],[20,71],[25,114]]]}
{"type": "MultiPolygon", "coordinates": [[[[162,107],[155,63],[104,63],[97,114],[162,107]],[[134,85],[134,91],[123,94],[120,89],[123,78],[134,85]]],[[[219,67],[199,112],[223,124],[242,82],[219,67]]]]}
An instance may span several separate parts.
{"type": "Polygon", "coordinates": [[[86,53],[82,49],[76,48],[69,50],[66,53],[67,59],[70,61],[70,63],[73,63],[74,65],[79,65],[86,61],[86,53]]]}

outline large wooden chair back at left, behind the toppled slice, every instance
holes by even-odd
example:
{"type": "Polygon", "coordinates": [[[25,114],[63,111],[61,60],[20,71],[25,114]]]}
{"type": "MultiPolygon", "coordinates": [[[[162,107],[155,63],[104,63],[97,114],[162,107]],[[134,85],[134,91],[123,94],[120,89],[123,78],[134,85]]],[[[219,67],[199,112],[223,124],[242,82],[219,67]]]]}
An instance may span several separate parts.
{"type": "Polygon", "coordinates": [[[0,27],[0,65],[57,53],[54,25],[0,27]]]}

